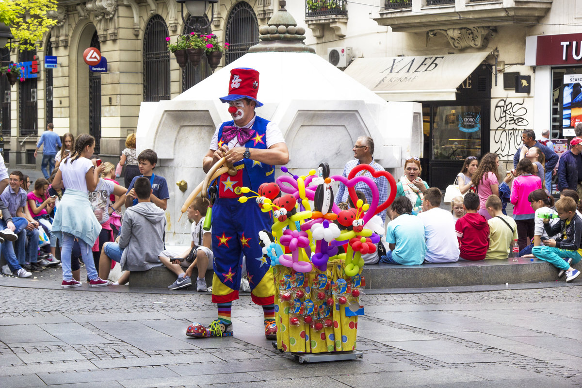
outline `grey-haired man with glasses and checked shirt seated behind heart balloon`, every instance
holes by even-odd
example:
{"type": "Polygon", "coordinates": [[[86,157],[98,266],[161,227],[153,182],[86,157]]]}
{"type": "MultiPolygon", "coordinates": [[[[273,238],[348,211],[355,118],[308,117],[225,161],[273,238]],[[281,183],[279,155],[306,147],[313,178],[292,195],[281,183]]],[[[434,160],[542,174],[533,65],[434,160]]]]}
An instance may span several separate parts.
{"type": "MultiPolygon", "coordinates": [[[[369,136],[360,136],[358,140],[356,140],[356,144],[352,148],[354,151],[354,160],[349,161],[346,163],[346,167],[343,169],[342,175],[347,177],[352,171],[354,167],[359,165],[360,163],[364,163],[370,165],[376,171],[384,171],[384,168],[379,165],[377,162],[374,161],[374,140],[372,140],[369,136]]],[[[368,171],[360,172],[359,175],[364,175],[371,177],[374,180],[376,186],[378,186],[378,193],[380,194],[378,204],[382,204],[382,202],[388,200],[388,180],[384,177],[374,178],[372,177],[371,173],[368,171]]],[[[367,184],[363,182],[356,183],[356,190],[360,190],[365,195],[365,199],[370,204],[372,202],[372,190],[368,187],[367,184]]],[[[343,183],[339,184],[338,194],[335,196],[335,202],[338,204],[339,202],[347,201],[347,197],[349,197],[349,193],[346,190],[346,186],[343,183]]],[[[386,220],[386,212],[382,212],[379,214],[382,218],[382,222],[386,220]]]]}

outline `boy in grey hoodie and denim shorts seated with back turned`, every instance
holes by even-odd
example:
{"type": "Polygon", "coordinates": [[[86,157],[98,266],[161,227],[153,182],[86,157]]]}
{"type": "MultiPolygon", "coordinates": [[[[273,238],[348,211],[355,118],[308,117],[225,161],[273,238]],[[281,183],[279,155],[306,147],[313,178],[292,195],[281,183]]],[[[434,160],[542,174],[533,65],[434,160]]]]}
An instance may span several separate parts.
{"type": "Polygon", "coordinates": [[[144,177],[136,179],[134,189],[137,205],[127,208],[123,215],[121,233],[115,243],[103,244],[99,261],[99,275],[107,279],[111,260],[122,270],[144,271],[161,266],[159,252],[164,250],[164,211],[150,201],[151,183],[144,177]]]}

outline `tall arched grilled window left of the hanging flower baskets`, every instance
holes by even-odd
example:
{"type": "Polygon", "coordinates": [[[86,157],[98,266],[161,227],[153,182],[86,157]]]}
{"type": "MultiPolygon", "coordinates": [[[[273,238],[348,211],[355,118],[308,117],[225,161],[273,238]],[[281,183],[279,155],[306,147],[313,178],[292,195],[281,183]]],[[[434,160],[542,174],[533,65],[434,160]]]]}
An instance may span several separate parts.
{"type": "Polygon", "coordinates": [[[144,101],[170,99],[170,52],[166,46],[168,36],[164,18],[152,16],[144,33],[144,101]]]}

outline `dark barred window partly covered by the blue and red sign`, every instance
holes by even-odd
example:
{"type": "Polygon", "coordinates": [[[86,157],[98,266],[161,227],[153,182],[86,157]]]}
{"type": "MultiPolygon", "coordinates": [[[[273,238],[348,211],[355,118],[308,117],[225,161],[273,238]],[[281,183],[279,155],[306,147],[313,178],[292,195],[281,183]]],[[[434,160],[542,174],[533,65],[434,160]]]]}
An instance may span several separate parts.
{"type": "MultiPolygon", "coordinates": [[[[24,50],[19,53],[19,62],[35,60],[36,50],[24,50]]],[[[20,112],[20,136],[38,133],[37,79],[27,78],[18,82],[18,110],[20,112]]]]}

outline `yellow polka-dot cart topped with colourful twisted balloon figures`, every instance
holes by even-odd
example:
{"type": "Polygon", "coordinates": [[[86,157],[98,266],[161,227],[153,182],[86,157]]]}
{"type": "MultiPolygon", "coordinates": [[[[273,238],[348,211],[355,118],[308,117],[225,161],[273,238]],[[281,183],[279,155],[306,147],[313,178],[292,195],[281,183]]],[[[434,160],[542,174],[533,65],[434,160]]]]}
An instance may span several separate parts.
{"type": "MultiPolygon", "coordinates": [[[[289,173],[284,166],[281,170],[289,173]]],[[[243,187],[241,193],[254,193],[243,187]]],[[[240,202],[254,198],[264,212],[272,212],[271,230],[259,234],[265,264],[275,273],[275,312],[277,345],[281,351],[321,353],[354,350],[359,304],[362,255],[374,253],[381,234],[385,211],[396,197],[396,181],[385,171],[360,164],[349,176],[329,176],[322,163],[307,176],[283,175],[276,183],[262,184],[254,196],[244,195],[240,202]],[[388,200],[379,204],[374,177],[384,176],[389,183],[388,200]],[[347,187],[355,208],[340,210],[333,203],[332,184],[347,187]],[[370,187],[372,201],[364,204],[354,186],[363,182],[370,187]],[[313,206],[312,206],[313,204],[313,206]],[[343,248],[343,247],[346,248],[343,248]],[[343,252],[345,251],[345,252],[343,252]]]]}

